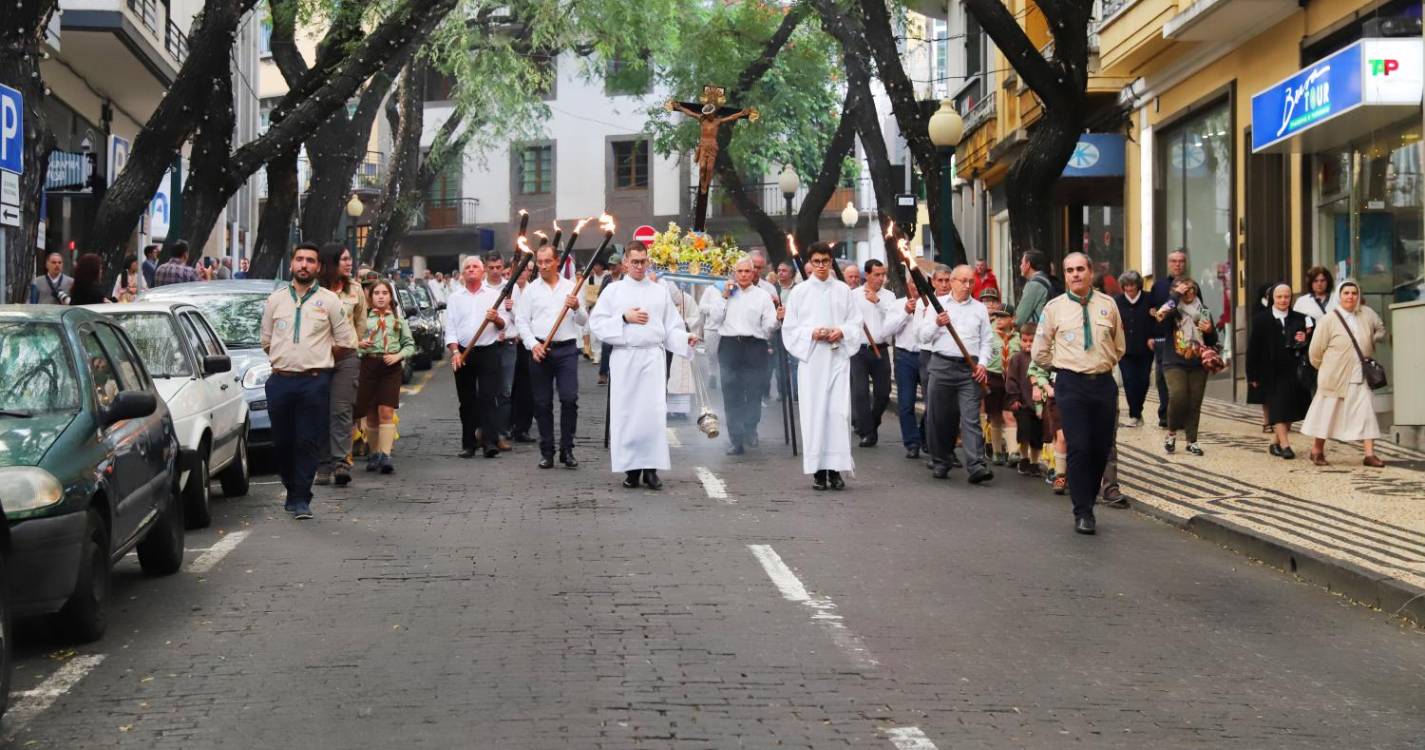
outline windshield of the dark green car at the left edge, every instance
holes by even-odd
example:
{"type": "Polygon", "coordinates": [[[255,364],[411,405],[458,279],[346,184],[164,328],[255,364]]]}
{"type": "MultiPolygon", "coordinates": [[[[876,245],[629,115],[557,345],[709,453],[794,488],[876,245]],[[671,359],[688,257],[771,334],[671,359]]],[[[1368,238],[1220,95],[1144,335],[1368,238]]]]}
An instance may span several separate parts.
{"type": "Polygon", "coordinates": [[[78,378],[60,327],[0,322],[0,419],[78,408],[78,378]]]}

